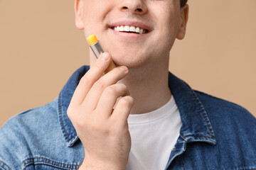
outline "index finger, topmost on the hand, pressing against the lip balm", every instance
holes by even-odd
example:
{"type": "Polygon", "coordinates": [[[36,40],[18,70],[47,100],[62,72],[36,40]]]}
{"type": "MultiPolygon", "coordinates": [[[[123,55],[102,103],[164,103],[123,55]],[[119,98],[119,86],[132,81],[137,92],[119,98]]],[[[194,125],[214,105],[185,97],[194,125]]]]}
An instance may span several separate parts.
{"type": "Polygon", "coordinates": [[[80,105],[84,101],[87,92],[92,85],[100,79],[105,69],[110,64],[111,56],[108,52],[104,52],[96,60],[95,64],[88,70],[88,72],[80,79],[80,82],[75,89],[73,98],[70,101],[70,105],[80,105]]]}

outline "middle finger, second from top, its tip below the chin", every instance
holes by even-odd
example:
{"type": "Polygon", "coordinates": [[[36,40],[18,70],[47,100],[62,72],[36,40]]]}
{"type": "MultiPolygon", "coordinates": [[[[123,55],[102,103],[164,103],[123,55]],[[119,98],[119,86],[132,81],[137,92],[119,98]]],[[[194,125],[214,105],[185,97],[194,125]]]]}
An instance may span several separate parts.
{"type": "Polygon", "coordinates": [[[85,100],[82,103],[82,107],[89,109],[89,112],[92,112],[97,107],[97,103],[100,100],[102,92],[107,86],[116,84],[117,81],[124,78],[128,73],[127,67],[121,66],[112,69],[110,72],[101,77],[98,81],[93,84],[90,91],[88,91],[85,100]]]}

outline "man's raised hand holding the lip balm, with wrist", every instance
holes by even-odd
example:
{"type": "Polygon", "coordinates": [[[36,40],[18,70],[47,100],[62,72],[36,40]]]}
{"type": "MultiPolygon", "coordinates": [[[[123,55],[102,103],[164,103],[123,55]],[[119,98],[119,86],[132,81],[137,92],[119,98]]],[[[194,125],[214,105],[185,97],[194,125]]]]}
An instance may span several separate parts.
{"type": "Polygon", "coordinates": [[[85,147],[81,169],[124,169],[128,162],[131,137],[127,118],[134,100],[127,96],[127,86],[117,84],[127,75],[127,67],[102,76],[110,60],[107,52],[100,55],[80,80],[68,107],[68,117],[85,147]]]}

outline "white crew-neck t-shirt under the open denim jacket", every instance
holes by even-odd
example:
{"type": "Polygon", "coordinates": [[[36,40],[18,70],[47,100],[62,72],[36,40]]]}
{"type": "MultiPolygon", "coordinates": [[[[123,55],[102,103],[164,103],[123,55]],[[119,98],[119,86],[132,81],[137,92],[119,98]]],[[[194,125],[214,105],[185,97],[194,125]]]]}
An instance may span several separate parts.
{"type": "Polygon", "coordinates": [[[181,130],[174,97],[155,111],[129,115],[132,148],[126,170],[164,170],[181,130]]]}

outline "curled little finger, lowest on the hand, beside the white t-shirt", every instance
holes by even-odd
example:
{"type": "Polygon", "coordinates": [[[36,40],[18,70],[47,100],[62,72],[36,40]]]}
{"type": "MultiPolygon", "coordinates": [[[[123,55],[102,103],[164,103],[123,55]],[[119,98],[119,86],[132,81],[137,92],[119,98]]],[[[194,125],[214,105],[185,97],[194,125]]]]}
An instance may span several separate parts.
{"type": "Polygon", "coordinates": [[[134,98],[131,96],[124,96],[120,98],[111,115],[114,123],[118,123],[120,126],[126,125],[127,118],[129,117],[133,105],[134,98]]]}

